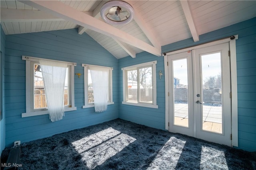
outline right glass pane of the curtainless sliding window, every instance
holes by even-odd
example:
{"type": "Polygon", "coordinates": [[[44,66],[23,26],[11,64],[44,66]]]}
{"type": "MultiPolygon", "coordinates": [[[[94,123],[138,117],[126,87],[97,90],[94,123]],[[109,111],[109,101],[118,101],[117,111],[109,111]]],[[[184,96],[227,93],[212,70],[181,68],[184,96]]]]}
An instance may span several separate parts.
{"type": "Polygon", "coordinates": [[[153,103],[152,97],[152,67],[140,68],[140,102],[153,103]]]}

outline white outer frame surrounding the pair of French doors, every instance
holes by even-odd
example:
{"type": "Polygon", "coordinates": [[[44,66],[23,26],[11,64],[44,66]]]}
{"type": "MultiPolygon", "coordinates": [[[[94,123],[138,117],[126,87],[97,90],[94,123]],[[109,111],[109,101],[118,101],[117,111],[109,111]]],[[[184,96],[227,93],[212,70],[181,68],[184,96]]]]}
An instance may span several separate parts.
{"type": "Polygon", "coordinates": [[[231,102],[231,131],[232,131],[232,146],[238,147],[238,104],[237,104],[237,73],[236,73],[236,39],[238,39],[238,35],[234,35],[234,39],[230,39],[230,37],[221,39],[218,41],[213,41],[210,43],[205,43],[202,45],[188,47],[186,49],[180,49],[177,51],[172,51],[170,53],[166,53],[164,56],[164,78],[165,78],[165,129],[169,130],[169,97],[168,97],[168,88],[169,82],[171,80],[168,79],[168,55],[178,54],[186,51],[192,51],[193,49],[200,49],[204,47],[210,47],[213,45],[218,45],[222,43],[229,42],[230,46],[230,71],[231,71],[231,92],[232,92],[232,102],[231,102]]]}

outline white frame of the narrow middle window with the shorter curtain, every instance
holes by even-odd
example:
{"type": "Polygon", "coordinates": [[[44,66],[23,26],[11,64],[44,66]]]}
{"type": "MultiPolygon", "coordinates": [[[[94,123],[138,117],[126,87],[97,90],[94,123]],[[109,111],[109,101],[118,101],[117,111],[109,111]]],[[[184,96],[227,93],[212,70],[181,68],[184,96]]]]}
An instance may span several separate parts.
{"type": "Polygon", "coordinates": [[[84,106],[83,106],[83,108],[94,107],[94,103],[88,103],[88,68],[90,68],[90,66],[109,68],[109,87],[110,87],[109,96],[110,96],[110,101],[108,101],[108,105],[114,104],[114,102],[113,102],[113,86],[112,86],[112,70],[113,70],[113,67],[90,65],[90,64],[82,64],[82,66],[84,67],[84,106]]]}

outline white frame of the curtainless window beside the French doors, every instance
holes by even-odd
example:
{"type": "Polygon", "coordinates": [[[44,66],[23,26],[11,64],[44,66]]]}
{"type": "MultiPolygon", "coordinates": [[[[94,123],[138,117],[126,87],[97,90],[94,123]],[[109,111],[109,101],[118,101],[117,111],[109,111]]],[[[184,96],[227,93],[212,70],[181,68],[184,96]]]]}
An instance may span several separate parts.
{"type": "Polygon", "coordinates": [[[156,105],[156,63],[157,63],[157,61],[151,61],[151,62],[147,62],[147,63],[141,63],[141,64],[136,64],[136,65],[122,68],[122,71],[123,71],[123,102],[122,102],[122,104],[132,105],[132,106],[140,106],[140,107],[158,108],[158,105],[156,105]],[[132,69],[138,70],[139,68],[145,67],[145,66],[152,66],[152,83],[153,83],[153,88],[152,88],[153,102],[152,102],[152,104],[148,104],[145,102],[139,102],[138,100],[137,100],[137,102],[126,101],[126,95],[127,95],[126,71],[132,70],[132,69]]]}

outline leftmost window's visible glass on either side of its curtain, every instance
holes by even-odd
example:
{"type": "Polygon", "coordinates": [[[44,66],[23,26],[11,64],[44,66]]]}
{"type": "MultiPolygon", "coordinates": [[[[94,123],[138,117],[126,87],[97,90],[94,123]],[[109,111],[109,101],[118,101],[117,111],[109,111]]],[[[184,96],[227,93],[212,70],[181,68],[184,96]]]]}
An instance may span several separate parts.
{"type": "MultiPolygon", "coordinates": [[[[66,71],[65,87],[64,87],[64,106],[69,105],[69,82],[68,73],[66,71]]],[[[34,64],[34,109],[42,109],[47,107],[46,95],[44,90],[44,80],[40,64],[34,64]]]]}

